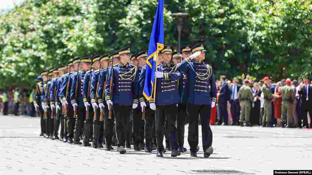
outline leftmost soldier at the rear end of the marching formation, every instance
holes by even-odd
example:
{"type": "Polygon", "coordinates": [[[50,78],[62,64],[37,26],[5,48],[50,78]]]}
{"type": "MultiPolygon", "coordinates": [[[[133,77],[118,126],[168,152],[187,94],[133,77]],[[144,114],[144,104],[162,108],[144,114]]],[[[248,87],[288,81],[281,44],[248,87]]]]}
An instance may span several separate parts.
{"type": "Polygon", "coordinates": [[[46,123],[43,118],[43,108],[41,106],[41,94],[43,91],[43,84],[44,84],[42,77],[44,74],[46,74],[46,72],[42,72],[41,75],[38,76],[37,78],[38,83],[36,83],[36,96],[34,98],[34,106],[40,116],[40,126],[41,126],[40,136],[46,135],[46,123]]]}

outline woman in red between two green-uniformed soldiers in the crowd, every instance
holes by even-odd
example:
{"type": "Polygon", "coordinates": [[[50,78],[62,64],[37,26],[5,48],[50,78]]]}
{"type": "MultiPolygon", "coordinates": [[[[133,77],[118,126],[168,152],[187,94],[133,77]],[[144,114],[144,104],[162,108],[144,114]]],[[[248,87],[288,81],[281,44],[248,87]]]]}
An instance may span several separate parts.
{"type": "Polygon", "coordinates": [[[280,88],[282,87],[282,83],[276,83],[275,92],[273,94],[274,97],[274,117],[277,120],[277,126],[281,127],[280,117],[281,117],[281,108],[282,108],[282,96],[280,94],[280,88]]]}

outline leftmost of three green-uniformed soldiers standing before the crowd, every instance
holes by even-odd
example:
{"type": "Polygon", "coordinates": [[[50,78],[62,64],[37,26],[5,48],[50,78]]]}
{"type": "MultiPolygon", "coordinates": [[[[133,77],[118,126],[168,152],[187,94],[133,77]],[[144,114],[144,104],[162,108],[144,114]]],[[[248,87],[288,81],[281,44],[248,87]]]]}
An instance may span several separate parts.
{"type": "Polygon", "coordinates": [[[249,87],[249,80],[244,80],[244,85],[239,89],[239,101],[241,106],[241,116],[240,116],[240,124],[244,125],[244,119],[246,121],[246,126],[250,125],[250,111],[251,111],[251,103],[253,103],[253,94],[251,88],[249,87]]]}

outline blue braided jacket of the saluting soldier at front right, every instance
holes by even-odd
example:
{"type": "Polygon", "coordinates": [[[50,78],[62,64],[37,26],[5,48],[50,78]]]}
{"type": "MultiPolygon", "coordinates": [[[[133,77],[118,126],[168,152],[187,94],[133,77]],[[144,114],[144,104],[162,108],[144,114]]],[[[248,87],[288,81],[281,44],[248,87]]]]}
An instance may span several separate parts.
{"type": "Polygon", "coordinates": [[[185,102],[194,105],[216,102],[217,88],[210,65],[184,59],[178,64],[178,69],[187,76],[182,97],[185,102]]]}

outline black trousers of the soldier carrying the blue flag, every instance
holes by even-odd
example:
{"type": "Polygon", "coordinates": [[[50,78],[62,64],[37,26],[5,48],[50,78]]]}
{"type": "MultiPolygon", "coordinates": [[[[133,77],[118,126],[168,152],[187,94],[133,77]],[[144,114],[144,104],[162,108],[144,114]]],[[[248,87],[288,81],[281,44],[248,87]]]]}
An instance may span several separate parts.
{"type": "Polygon", "coordinates": [[[176,132],[177,128],[175,126],[177,105],[167,105],[167,106],[156,106],[155,111],[155,122],[156,122],[156,137],[158,151],[163,151],[163,135],[164,135],[164,125],[167,119],[168,123],[168,133],[170,133],[170,143],[172,150],[178,150],[176,142],[176,132]]]}

